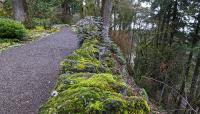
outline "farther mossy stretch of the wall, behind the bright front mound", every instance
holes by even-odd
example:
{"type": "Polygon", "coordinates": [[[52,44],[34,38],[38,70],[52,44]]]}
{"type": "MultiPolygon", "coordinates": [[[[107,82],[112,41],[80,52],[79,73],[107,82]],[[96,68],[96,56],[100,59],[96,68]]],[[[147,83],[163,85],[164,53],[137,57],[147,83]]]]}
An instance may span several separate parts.
{"type": "Polygon", "coordinates": [[[103,62],[98,60],[98,43],[99,41],[96,38],[86,39],[79,49],[61,62],[61,73],[111,73],[114,62],[109,58],[103,62]]]}

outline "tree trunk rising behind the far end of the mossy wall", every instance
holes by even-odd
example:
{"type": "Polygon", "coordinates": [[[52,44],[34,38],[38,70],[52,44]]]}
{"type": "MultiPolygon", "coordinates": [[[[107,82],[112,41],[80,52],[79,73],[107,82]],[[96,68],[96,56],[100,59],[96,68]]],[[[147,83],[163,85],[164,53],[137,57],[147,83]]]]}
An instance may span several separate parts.
{"type": "Polygon", "coordinates": [[[102,1],[101,16],[103,18],[102,35],[103,35],[103,38],[105,40],[108,38],[111,13],[112,13],[112,0],[103,0],[102,1]]]}

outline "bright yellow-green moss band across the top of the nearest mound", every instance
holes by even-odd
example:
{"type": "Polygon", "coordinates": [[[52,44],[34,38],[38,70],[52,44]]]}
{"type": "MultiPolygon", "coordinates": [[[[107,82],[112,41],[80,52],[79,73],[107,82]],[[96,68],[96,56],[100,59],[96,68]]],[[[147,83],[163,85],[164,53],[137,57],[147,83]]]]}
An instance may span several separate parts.
{"type": "Polygon", "coordinates": [[[60,92],[69,87],[77,88],[79,86],[97,87],[118,93],[126,88],[126,85],[122,83],[122,79],[117,79],[111,74],[75,73],[60,76],[56,90],[60,92]]]}

